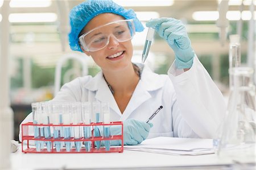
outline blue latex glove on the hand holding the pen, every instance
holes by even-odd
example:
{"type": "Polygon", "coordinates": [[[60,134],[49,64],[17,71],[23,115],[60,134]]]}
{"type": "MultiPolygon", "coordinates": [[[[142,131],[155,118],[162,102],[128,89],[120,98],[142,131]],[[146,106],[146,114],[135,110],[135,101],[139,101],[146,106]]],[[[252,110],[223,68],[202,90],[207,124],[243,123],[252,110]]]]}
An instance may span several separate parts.
{"type": "MultiPolygon", "coordinates": [[[[137,145],[145,140],[148,136],[152,123],[137,121],[135,119],[127,119],[123,121],[123,144],[137,145]]],[[[110,127],[111,135],[121,135],[120,126],[110,127]]],[[[121,140],[110,141],[111,145],[121,145],[121,140]]]]}

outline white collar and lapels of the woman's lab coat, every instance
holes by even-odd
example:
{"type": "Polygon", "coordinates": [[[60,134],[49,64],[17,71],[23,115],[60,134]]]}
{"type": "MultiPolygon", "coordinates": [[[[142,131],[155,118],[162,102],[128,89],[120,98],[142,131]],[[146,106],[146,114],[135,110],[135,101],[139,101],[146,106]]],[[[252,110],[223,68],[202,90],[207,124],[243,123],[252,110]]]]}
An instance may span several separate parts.
{"type": "Polygon", "coordinates": [[[129,117],[129,115],[137,109],[143,102],[147,101],[147,99],[151,98],[150,92],[154,90],[158,90],[163,87],[163,83],[161,83],[161,78],[159,74],[156,74],[151,71],[146,65],[141,63],[136,63],[138,67],[141,69],[141,80],[139,81],[133,96],[131,97],[125,111],[121,114],[117,102],[115,102],[113,94],[110,92],[108,85],[103,77],[102,72],[98,73],[96,76],[92,78],[87,84],[85,84],[84,88],[96,91],[95,98],[100,102],[108,102],[109,107],[115,111],[115,113],[121,116],[121,120],[123,121],[129,117]]]}

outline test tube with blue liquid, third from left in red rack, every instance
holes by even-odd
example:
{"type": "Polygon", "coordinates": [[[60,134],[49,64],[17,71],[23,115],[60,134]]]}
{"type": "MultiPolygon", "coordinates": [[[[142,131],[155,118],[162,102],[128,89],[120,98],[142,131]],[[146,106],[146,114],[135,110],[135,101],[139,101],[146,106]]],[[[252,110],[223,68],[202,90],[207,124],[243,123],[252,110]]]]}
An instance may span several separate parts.
{"type": "MultiPolygon", "coordinates": [[[[59,125],[59,105],[56,103],[52,105],[52,114],[50,115],[50,122],[53,125],[59,125]]],[[[60,139],[60,126],[53,126],[53,138],[60,139]]],[[[57,141],[54,142],[56,152],[60,152],[61,149],[61,142],[57,141]]]]}

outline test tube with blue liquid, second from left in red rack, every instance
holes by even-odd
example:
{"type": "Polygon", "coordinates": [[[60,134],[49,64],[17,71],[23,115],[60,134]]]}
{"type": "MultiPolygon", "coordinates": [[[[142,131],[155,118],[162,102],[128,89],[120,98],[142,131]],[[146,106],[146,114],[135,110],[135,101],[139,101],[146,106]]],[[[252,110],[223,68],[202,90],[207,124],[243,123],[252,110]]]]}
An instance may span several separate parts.
{"type": "MultiPolygon", "coordinates": [[[[49,125],[49,117],[48,117],[48,105],[47,102],[41,103],[42,107],[42,122],[44,125],[49,125]]],[[[51,139],[51,131],[49,126],[44,126],[44,138],[51,139]]],[[[46,141],[46,148],[48,152],[51,152],[51,141],[46,141]]]]}

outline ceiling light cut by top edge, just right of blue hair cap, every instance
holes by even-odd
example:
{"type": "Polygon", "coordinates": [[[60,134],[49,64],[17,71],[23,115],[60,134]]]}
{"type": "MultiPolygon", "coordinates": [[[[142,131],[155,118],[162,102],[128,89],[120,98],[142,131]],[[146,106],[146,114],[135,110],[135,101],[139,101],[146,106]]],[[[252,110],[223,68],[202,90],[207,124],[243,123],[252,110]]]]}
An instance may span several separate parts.
{"type": "Polygon", "coordinates": [[[174,4],[173,0],[162,0],[162,1],[152,1],[152,0],[114,0],[115,3],[121,6],[171,6],[174,4]]]}

